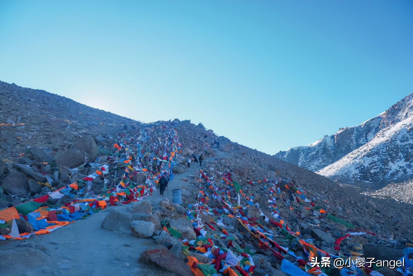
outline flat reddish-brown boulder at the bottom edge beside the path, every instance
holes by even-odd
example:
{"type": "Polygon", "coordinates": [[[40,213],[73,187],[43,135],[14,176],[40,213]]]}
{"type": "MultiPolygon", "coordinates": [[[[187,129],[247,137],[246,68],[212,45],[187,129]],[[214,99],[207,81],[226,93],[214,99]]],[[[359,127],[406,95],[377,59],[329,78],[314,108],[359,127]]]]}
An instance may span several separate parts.
{"type": "Polygon", "coordinates": [[[147,249],[139,257],[139,262],[161,267],[178,276],[193,276],[188,264],[172,254],[166,247],[159,245],[154,249],[147,249]]]}

